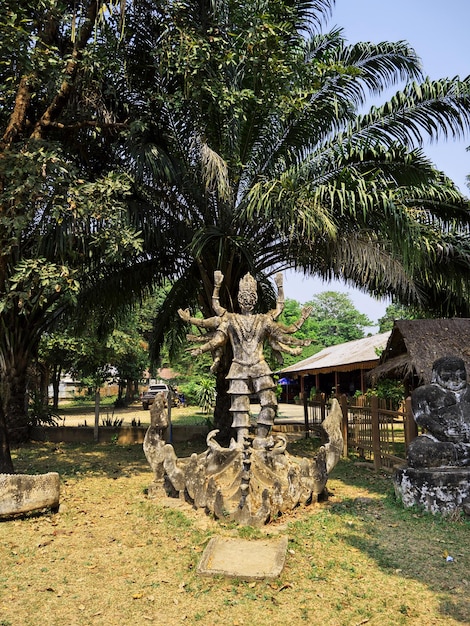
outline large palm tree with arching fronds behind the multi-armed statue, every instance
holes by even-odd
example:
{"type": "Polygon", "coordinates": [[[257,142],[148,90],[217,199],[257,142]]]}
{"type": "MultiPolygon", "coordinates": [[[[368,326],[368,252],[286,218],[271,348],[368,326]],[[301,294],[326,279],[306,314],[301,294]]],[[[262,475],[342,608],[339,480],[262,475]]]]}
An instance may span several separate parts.
{"type": "Polygon", "coordinates": [[[267,308],[270,275],[296,268],[424,306],[443,304],[447,290],[448,313],[468,310],[467,201],[420,146],[468,129],[470,81],[424,79],[405,42],[349,46],[341,30],[321,33],[333,5],[129,8],[136,121],[121,154],[140,184],[144,239],[158,232],[178,259],[155,319],[155,356],[185,330],[179,307],[211,313],[216,269],[229,308],[247,271],[267,308]],[[402,81],[402,92],[361,114],[369,95],[402,81]]]}

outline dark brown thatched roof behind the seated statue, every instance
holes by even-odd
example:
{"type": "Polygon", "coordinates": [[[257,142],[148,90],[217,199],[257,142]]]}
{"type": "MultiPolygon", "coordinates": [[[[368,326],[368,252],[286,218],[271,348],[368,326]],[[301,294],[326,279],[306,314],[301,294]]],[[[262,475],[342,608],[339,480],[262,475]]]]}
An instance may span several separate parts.
{"type": "Polygon", "coordinates": [[[470,319],[396,320],[369,377],[376,381],[416,376],[419,384],[427,384],[434,361],[450,355],[461,357],[470,374],[470,319]]]}

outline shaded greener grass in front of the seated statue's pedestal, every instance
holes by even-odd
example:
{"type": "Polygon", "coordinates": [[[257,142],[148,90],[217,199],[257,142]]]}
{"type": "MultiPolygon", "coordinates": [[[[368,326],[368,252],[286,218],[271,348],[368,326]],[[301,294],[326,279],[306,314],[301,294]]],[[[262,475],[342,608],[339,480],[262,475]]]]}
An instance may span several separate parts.
{"type": "MultiPolygon", "coordinates": [[[[289,451],[308,456],[319,445],[319,440],[300,440],[289,451]]],[[[329,526],[330,535],[341,536],[388,576],[402,578],[405,616],[412,617],[417,601],[407,596],[406,580],[415,580],[436,594],[443,617],[470,624],[469,518],[405,509],[395,497],[391,473],[376,472],[370,464],[354,459],[340,460],[327,487],[333,489],[327,506],[302,526],[296,525],[296,533],[318,538],[319,528],[329,526]]]]}

